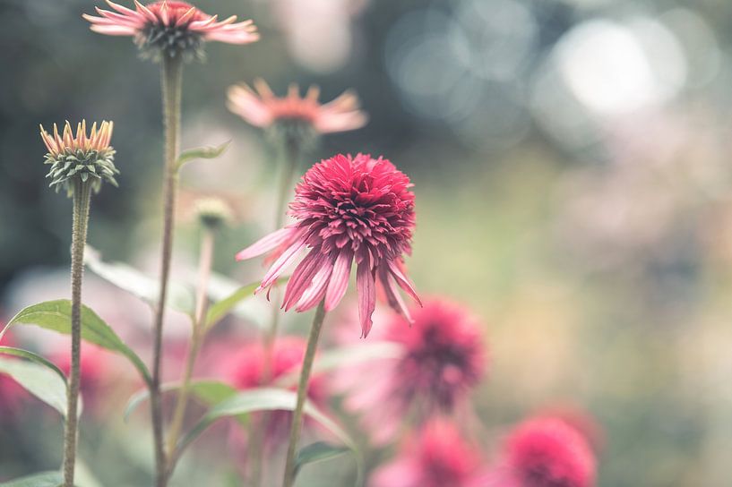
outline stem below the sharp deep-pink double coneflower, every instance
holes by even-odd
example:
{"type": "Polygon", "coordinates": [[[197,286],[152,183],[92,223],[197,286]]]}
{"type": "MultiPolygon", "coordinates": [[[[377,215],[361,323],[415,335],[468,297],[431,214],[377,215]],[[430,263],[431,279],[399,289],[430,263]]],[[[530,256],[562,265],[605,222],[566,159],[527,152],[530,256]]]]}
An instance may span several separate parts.
{"type": "Polygon", "coordinates": [[[313,326],[310,328],[310,337],[307,338],[307,349],[303,359],[303,367],[300,370],[300,381],[297,384],[297,403],[292,414],[292,428],[289,431],[288,457],[282,487],[292,487],[292,484],[295,483],[295,454],[297,452],[297,443],[300,440],[300,432],[303,428],[303,408],[307,397],[307,384],[310,380],[310,372],[313,370],[315,350],[318,346],[318,338],[320,338],[324,319],[325,301],[321,301],[315,312],[313,326]]]}

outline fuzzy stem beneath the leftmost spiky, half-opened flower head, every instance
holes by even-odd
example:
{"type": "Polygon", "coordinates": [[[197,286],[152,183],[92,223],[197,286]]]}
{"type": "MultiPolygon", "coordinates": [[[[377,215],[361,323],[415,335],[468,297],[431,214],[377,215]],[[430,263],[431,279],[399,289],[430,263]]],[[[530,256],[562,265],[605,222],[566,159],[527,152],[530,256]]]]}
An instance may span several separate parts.
{"type": "Polygon", "coordinates": [[[89,226],[91,185],[77,178],[73,188],[73,230],[71,244],[71,377],[66,405],[64,432],[64,486],[73,487],[78,437],[79,387],[82,356],[82,279],[84,244],[89,226]]]}

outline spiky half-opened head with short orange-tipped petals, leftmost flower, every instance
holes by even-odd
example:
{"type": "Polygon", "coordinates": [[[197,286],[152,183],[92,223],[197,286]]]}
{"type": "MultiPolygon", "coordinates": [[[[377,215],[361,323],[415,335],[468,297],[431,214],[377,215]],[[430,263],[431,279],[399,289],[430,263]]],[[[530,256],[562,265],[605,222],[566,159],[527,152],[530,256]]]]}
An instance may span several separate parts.
{"type": "Polygon", "coordinates": [[[54,124],[53,135],[40,126],[40,137],[48,150],[45,164],[51,165],[46,177],[51,178],[51,187],[65,188],[73,193],[74,181],[91,182],[95,192],[99,192],[103,181],[117,185],[115,175],[119,171],[115,167],[115,150],[109,145],[112,139],[113,122],[102,122],[97,130],[97,123],[91,125],[87,135],[86,120],[76,125],[76,136],[71,124],[66,122],[63,135],[59,134],[54,124]]]}

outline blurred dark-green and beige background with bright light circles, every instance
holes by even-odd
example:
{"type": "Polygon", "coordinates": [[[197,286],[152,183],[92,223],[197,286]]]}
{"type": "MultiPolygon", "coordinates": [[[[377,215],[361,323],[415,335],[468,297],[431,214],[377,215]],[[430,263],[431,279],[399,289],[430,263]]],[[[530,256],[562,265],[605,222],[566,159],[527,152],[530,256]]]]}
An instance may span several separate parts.
{"type": "MultiPolygon", "coordinates": [[[[81,14],[97,4],[0,0],[4,320],[68,295],[71,203],[46,187],[39,124],[115,121],[120,188],[94,199],[89,242],[106,260],[157,270],[159,66],[141,62],[129,38],[90,32],[81,14]]],[[[570,403],[605,431],[599,485],[728,485],[727,2],[196,4],[254,19],[262,40],[209,44],[206,62],[185,68],[183,147],[233,142],[220,160],[185,169],[178,274],[195,269],[190,208],[200,195],[226,199],[237,216],[220,238],[216,271],[241,283],[262,272],[233,255],[272,229],[278,160],[260,131],[228,112],[228,86],[263,77],[284,94],[290,81],[314,83],[324,101],[353,88],[369,124],[325,137],[310,162],[371,152],[412,178],[412,278],[422,293],[466,303],[485,323],[491,365],[474,405],[487,437],[478,440],[492,444],[489,435],[505,424],[570,403]]],[[[121,335],[150,326],[142,303],[88,277],[85,302],[121,335]]],[[[288,316],[286,325],[303,334],[307,319],[288,316]]],[[[245,322],[227,326],[242,337],[254,333],[245,322]]],[[[185,350],[185,320],[171,317],[168,333],[172,353],[185,350]]],[[[124,363],[116,371],[133,376],[124,363]]],[[[57,465],[60,421],[41,414],[44,406],[29,407],[34,414],[13,426],[24,432],[5,423],[0,430],[0,477],[57,465]]],[[[82,451],[103,466],[101,480],[126,479],[110,485],[134,485],[130,472],[149,467],[149,433],[139,419],[82,431],[82,451]],[[139,449],[125,450],[118,444],[125,441],[139,449]],[[124,451],[124,460],[108,466],[98,450],[124,451]]],[[[209,457],[226,449],[209,441],[199,449],[209,457]]]]}

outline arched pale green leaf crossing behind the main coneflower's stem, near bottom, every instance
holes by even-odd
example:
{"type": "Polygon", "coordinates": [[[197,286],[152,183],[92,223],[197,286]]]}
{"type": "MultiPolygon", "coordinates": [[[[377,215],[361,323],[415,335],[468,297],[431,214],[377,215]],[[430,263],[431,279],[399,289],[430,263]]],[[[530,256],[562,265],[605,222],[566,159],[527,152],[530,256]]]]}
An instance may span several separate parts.
{"type": "MultiPolygon", "coordinates": [[[[213,406],[206,413],[201,421],[197,423],[191,431],[185,434],[180,440],[176,449],[176,459],[185,448],[190,445],[203,431],[217,420],[226,417],[240,416],[242,414],[250,414],[255,411],[293,411],[297,403],[297,394],[287,389],[248,389],[238,392],[235,396],[220,402],[213,406]]],[[[354,453],[357,462],[358,479],[361,478],[362,463],[356,443],[351,440],[349,434],[343,431],[340,426],[335,423],[327,415],[318,410],[310,401],[306,401],[305,414],[312,417],[318,423],[321,423],[327,430],[331,431],[346,447],[354,453]]]]}

